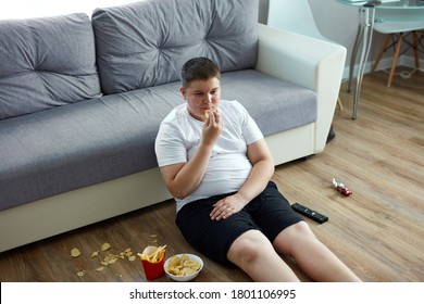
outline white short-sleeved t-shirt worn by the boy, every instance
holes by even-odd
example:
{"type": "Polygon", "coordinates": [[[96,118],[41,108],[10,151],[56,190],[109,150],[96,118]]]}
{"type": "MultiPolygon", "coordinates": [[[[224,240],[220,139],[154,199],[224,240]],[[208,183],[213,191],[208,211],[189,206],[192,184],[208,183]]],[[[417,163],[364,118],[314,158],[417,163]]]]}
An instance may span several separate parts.
{"type": "MultiPolygon", "coordinates": [[[[247,145],[263,138],[255,122],[237,101],[221,100],[220,116],[223,130],[217,139],[199,187],[183,200],[177,212],[187,203],[238,191],[251,170],[247,145]]],[[[194,118],[187,104],[176,106],[163,119],[157,139],[155,153],[160,167],[187,163],[195,154],[202,135],[203,122],[194,118]]]]}

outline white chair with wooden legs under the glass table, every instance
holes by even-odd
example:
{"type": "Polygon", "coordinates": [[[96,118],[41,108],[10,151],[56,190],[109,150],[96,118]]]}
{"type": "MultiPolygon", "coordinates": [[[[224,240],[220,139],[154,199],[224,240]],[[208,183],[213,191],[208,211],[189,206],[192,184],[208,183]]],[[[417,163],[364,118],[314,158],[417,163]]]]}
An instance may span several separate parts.
{"type": "Polygon", "coordinates": [[[387,35],[387,37],[383,43],[382,51],[379,52],[371,72],[374,72],[377,68],[384,53],[388,49],[394,47],[394,59],[391,61],[391,67],[389,72],[389,78],[387,80],[387,87],[391,86],[399,54],[401,53],[400,52],[401,46],[408,36],[412,36],[413,41],[412,42],[407,41],[409,46],[404,51],[407,51],[411,47],[414,49],[415,68],[420,68],[419,47],[424,37],[424,34],[421,33],[421,36],[419,35],[420,35],[420,30],[422,29],[424,29],[424,22],[377,22],[374,24],[374,30],[377,33],[385,34],[387,35]],[[391,43],[389,45],[390,41],[391,43]]]}

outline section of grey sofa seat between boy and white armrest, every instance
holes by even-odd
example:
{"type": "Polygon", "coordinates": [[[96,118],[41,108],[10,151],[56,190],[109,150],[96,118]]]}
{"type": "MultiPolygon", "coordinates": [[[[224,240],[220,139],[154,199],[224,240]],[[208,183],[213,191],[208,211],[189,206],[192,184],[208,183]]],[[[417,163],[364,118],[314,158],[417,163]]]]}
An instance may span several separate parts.
{"type": "Polygon", "coordinates": [[[224,73],[221,92],[222,99],[239,101],[265,137],[316,121],[314,91],[255,69],[224,73]]]}

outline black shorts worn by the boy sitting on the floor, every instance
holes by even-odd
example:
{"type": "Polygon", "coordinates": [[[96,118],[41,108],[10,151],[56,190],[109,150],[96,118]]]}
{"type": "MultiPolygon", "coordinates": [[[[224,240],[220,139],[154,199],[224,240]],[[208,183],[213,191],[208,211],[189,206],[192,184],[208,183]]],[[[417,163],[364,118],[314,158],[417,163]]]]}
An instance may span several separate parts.
{"type": "Polygon", "coordinates": [[[212,220],[210,213],[213,204],[230,194],[190,202],[184,205],[176,216],[176,225],[187,242],[219,263],[234,266],[227,259],[227,252],[244,232],[260,230],[273,242],[285,228],[302,220],[272,181],[240,212],[226,219],[212,220]]]}

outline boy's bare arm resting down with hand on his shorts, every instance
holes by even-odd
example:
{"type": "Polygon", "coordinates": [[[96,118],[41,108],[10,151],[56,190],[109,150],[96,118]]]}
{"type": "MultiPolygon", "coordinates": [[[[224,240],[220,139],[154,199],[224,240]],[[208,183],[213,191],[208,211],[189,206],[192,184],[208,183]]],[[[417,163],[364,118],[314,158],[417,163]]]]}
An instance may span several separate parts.
{"type": "Polygon", "coordinates": [[[211,212],[212,219],[232,216],[261,193],[274,174],[274,161],[264,139],[248,145],[248,159],[252,169],[248,179],[236,194],[219,201],[211,212]]]}

